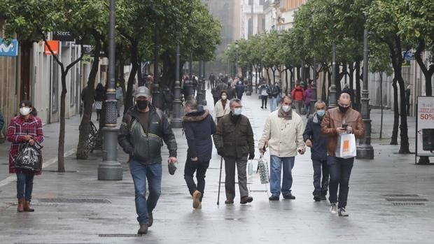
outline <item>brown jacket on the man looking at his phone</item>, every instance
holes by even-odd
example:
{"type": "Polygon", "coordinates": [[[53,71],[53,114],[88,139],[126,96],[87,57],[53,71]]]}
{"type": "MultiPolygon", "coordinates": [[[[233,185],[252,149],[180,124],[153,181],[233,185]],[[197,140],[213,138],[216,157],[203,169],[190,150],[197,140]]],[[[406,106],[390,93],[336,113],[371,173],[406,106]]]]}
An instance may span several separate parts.
{"type": "Polygon", "coordinates": [[[365,136],[365,124],[363,124],[362,116],[356,110],[349,108],[346,113],[342,113],[339,108],[332,108],[325,111],[323,122],[321,122],[321,134],[327,138],[327,153],[330,156],[335,156],[337,148],[337,127],[342,127],[342,124],[348,124],[353,129],[353,134],[356,138],[365,136]]]}

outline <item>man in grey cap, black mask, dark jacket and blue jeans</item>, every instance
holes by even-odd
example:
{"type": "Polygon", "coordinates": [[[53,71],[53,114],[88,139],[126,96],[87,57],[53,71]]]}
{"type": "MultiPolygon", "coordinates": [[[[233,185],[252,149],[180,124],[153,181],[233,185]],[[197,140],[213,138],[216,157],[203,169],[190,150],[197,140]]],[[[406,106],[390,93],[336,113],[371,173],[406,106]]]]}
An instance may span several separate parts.
{"type": "Polygon", "coordinates": [[[176,139],[167,117],[151,106],[151,93],[147,87],[139,87],[135,94],[136,106],[125,113],[120,124],[118,141],[124,152],[130,155],[130,172],[136,196],[138,234],[146,234],[153,224],[155,206],[161,192],[162,141],[169,149],[169,164],[176,160],[176,139]],[[146,180],[149,196],[146,199],[146,180]]]}

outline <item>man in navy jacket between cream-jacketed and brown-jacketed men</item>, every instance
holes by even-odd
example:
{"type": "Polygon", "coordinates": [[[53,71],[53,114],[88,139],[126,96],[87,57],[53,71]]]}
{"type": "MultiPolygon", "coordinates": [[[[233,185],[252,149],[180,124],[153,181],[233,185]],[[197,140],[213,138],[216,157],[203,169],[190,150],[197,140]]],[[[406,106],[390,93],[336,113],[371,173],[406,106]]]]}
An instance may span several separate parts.
{"type": "Polygon", "coordinates": [[[321,122],[325,115],[325,103],[317,101],[315,103],[314,116],[307,120],[304,129],[303,139],[306,145],[311,148],[311,159],[314,165],[314,200],[327,200],[328,189],[328,166],[327,166],[327,148],[325,147],[325,136],[321,135],[321,122]],[[323,180],[321,180],[321,168],[323,180]]]}

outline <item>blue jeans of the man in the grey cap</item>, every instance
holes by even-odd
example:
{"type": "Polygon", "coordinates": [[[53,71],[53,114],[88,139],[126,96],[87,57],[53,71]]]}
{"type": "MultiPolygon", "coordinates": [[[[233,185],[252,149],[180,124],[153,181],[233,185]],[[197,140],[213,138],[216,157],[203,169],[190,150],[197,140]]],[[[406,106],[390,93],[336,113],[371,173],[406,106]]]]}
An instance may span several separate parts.
{"type": "Polygon", "coordinates": [[[130,172],[134,181],[137,221],[140,224],[148,224],[148,213],[152,213],[161,194],[161,163],[141,164],[132,159],[130,172]],[[146,179],[149,184],[148,199],[146,199],[146,179]]]}

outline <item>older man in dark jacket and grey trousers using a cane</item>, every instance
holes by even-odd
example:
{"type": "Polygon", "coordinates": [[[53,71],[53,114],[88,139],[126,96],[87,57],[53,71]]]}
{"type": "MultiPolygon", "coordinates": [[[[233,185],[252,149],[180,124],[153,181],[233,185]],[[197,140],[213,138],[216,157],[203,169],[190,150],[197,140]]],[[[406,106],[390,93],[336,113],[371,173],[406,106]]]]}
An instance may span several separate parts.
{"type": "Polygon", "coordinates": [[[253,130],[248,118],[241,115],[241,100],[230,101],[230,113],[221,118],[214,135],[218,155],[225,159],[225,191],[226,204],[234,203],[235,199],[235,166],[238,171],[238,185],[241,204],[251,203],[253,197],[248,196],[247,189],[247,156],[255,158],[255,142],[253,130]]]}

